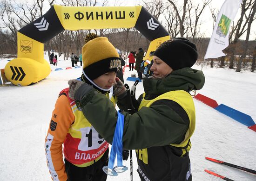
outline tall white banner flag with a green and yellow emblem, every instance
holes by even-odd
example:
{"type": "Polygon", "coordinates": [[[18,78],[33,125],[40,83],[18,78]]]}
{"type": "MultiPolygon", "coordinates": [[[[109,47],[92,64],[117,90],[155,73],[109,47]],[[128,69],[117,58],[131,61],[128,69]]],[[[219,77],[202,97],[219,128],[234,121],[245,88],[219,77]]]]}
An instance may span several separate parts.
{"type": "Polygon", "coordinates": [[[222,52],[229,46],[229,28],[242,0],[225,0],[216,19],[204,59],[225,56],[222,52]]]}

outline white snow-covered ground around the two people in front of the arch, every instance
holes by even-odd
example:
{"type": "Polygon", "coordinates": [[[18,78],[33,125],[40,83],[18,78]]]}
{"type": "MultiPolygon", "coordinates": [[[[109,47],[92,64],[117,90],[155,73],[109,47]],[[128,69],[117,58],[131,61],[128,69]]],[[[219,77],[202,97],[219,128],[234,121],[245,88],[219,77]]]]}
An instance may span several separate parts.
{"type": "MultiPolygon", "coordinates": [[[[0,59],[0,69],[6,63],[7,59],[0,59]]],[[[81,76],[81,68],[66,67],[71,67],[71,62],[62,58],[57,66],[51,65],[53,71],[39,83],[0,87],[0,181],[51,181],[44,151],[49,121],[59,92],[67,87],[69,79],[81,76]],[[56,68],[63,70],[54,71],[56,68]]],[[[128,70],[125,80],[135,73],[128,70]]],[[[204,68],[203,72],[206,82],[197,93],[246,113],[256,122],[256,73],[216,68],[204,68]]],[[[134,82],[126,83],[131,86],[134,82]]],[[[136,95],[142,92],[140,82],[136,95]]],[[[190,151],[193,180],[222,180],[204,172],[208,169],[235,181],[256,181],[256,175],[205,160],[208,156],[256,170],[256,132],[198,100],[194,102],[196,130],[190,151]]],[[[133,155],[134,181],[140,181],[135,152],[133,155]]],[[[129,168],[128,161],[124,165],[129,168]]],[[[107,181],[130,181],[129,171],[108,176],[107,181]]]]}

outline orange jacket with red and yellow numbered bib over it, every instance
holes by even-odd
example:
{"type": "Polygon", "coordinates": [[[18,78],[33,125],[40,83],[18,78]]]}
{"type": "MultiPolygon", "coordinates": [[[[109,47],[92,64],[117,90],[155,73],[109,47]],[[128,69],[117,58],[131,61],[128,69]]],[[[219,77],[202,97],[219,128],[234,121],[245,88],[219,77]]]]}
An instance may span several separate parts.
{"type": "MultiPolygon", "coordinates": [[[[115,99],[111,101],[114,103],[115,99]]],[[[67,181],[63,154],[77,167],[87,167],[101,159],[107,149],[108,142],[84,117],[79,101],[69,98],[68,88],[62,90],[45,139],[47,165],[52,179],[67,181]]]]}

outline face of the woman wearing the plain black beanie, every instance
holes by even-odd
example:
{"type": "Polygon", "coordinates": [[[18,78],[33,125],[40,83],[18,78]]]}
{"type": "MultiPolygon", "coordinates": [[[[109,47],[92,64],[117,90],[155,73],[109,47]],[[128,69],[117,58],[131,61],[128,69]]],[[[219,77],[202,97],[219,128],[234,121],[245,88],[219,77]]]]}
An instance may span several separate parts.
{"type": "Polygon", "coordinates": [[[173,69],[168,66],[165,62],[163,62],[159,57],[153,57],[153,65],[151,66],[150,70],[153,71],[154,78],[165,78],[168,74],[170,74],[173,69]]]}

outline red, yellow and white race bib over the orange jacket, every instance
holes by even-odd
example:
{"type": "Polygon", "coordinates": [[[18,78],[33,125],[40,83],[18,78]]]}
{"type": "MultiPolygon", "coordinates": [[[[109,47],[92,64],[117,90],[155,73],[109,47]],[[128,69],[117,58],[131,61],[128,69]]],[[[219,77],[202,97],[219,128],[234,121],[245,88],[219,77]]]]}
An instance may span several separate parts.
{"type": "MultiPolygon", "coordinates": [[[[80,110],[79,102],[69,98],[68,88],[62,90],[61,93],[67,95],[75,117],[75,121],[69,128],[64,142],[63,152],[65,158],[77,167],[90,166],[101,159],[108,149],[108,143],[84,117],[83,112],[80,110]]],[[[106,96],[109,99],[109,94],[106,94],[106,96]]],[[[112,96],[110,100],[115,107],[116,98],[112,96]]]]}

